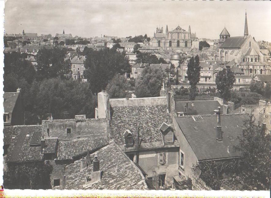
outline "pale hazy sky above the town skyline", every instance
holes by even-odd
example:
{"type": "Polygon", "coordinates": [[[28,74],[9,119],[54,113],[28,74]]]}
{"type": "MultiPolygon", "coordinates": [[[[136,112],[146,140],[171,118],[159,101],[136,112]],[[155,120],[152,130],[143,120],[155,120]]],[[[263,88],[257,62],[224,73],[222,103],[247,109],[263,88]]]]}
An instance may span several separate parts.
{"type": "Polygon", "coordinates": [[[231,36],[244,34],[245,10],[248,31],[256,40],[271,42],[270,1],[81,1],[7,0],[6,33],[38,33],[73,36],[153,36],[156,26],[178,25],[198,38],[218,39],[226,26],[231,36]]]}

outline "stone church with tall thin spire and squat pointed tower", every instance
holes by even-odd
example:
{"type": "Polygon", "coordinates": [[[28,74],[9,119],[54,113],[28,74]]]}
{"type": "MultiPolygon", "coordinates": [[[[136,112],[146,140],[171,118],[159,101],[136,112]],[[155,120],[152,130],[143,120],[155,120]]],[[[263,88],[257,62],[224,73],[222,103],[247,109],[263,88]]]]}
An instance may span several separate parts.
{"type": "Polygon", "coordinates": [[[217,60],[239,68],[245,75],[271,74],[258,43],[248,33],[247,11],[245,13],[244,35],[231,37],[226,27],[220,33],[217,60]],[[233,63],[233,64],[232,64],[233,63]]]}

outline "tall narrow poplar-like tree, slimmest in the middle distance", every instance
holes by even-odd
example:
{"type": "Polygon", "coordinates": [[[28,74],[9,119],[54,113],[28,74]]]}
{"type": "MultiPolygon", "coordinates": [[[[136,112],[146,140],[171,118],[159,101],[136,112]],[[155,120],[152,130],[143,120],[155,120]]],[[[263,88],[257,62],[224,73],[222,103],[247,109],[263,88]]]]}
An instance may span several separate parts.
{"type": "Polygon", "coordinates": [[[200,80],[200,66],[198,55],[192,56],[187,64],[187,77],[190,84],[189,100],[194,101],[197,96],[197,83],[200,80]]]}

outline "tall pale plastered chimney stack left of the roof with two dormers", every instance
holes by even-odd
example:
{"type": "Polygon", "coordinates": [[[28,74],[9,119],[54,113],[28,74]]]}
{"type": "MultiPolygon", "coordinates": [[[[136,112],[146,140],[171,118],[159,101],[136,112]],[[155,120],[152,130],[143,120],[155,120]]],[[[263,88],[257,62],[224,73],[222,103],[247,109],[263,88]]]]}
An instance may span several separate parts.
{"type": "Polygon", "coordinates": [[[105,90],[98,93],[98,118],[108,118],[110,120],[109,95],[105,90]]]}

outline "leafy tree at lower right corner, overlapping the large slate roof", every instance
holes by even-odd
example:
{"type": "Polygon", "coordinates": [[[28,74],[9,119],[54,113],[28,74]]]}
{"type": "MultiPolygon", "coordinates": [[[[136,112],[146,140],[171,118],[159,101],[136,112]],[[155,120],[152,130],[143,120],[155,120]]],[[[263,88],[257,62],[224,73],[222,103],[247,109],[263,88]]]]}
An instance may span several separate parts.
{"type": "MultiPolygon", "coordinates": [[[[253,112],[250,118],[245,121],[245,129],[242,135],[238,136],[239,145],[234,149],[242,152],[242,169],[249,174],[246,178],[248,186],[253,186],[255,190],[270,189],[270,133],[265,133],[265,129],[255,123],[253,112]]],[[[248,189],[252,190],[252,189],[248,189]]]]}

